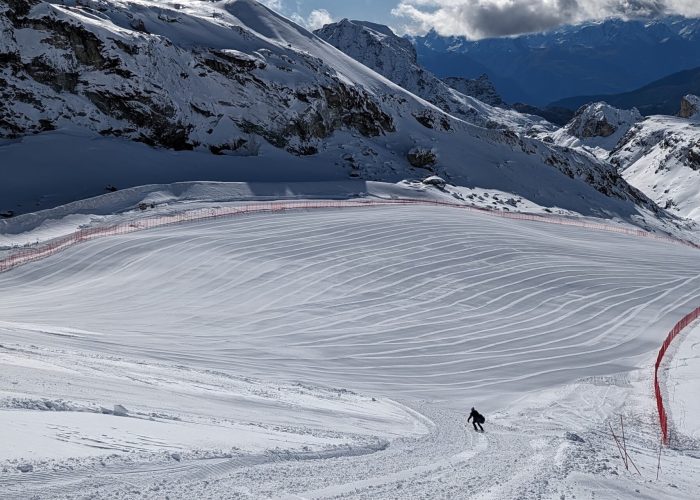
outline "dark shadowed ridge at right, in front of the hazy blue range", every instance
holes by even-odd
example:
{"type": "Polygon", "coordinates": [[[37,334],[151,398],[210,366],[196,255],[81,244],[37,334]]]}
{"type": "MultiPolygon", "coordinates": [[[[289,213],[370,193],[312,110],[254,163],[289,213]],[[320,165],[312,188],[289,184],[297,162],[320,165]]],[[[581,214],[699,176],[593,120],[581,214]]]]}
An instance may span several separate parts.
{"type": "Polygon", "coordinates": [[[569,97],[551,106],[578,109],[585,104],[605,101],[616,108],[637,108],[645,116],[675,115],[678,103],[687,94],[700,95],[700,68],[674,73],[631,92],[569,97]]]}

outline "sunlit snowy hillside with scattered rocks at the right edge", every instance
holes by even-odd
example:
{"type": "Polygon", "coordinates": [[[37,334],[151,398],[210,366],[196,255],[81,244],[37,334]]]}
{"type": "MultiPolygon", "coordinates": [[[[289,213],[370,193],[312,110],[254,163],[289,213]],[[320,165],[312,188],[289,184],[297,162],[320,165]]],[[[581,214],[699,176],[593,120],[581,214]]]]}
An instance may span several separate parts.
{"type": "Polygon", "coordinates": [[[651,116],[630,129],[610,154],[632,185],[682,217],[700,220],[700,114],[684,99],[689,118],[651,116]]]}

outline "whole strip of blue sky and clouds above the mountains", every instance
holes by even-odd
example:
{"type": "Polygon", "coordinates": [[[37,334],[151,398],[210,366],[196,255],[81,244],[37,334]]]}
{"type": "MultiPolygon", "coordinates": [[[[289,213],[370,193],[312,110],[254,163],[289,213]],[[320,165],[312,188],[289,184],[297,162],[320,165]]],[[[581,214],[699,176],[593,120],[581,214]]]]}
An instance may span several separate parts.
{"type": "Polygon", "coordinates": [[[608,17],[700,16],[700,0],[260,0],[307,28],[344,17],[399,34],[509,36],[608,17]]]}

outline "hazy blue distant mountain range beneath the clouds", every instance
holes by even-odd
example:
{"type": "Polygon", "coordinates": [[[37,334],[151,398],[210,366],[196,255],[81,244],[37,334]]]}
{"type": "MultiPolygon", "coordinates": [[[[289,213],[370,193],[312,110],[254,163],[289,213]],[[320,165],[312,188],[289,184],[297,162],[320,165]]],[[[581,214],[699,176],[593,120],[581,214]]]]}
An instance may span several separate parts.
{"type": "Polygon", "coordinates": [[[478,41],[432,31],[412,40],[419,62],[437,76],[486,73],[506,102],[535,106],[627,92],[700,66],[700,20],[679,17],[609,19],[478,41]]]}

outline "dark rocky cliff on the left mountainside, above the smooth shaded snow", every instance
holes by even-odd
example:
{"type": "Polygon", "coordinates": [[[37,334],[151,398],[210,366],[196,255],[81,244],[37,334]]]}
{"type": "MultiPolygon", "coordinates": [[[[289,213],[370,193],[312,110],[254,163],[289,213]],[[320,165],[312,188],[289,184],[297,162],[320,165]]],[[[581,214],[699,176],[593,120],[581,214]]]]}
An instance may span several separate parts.
{"type": "Polygon", "coordinates": [[[190,28],[207,36],[204,20],[157,2],[2,2],[0,133],[71,124],[214,152],[244,151],[254,133],[307,154],[339,129],[367,137],[394,130],[377,99],[323,61],[237,22],[262,8],[235,2],[213,12],[210,21],[228,23],[222,45],[217,23],[209,23],[212,43],[187,39],[190,28]]]}

